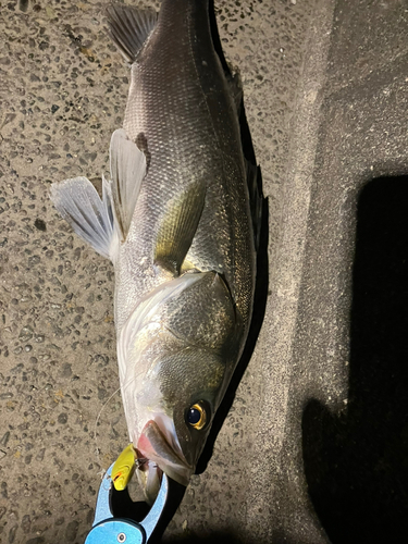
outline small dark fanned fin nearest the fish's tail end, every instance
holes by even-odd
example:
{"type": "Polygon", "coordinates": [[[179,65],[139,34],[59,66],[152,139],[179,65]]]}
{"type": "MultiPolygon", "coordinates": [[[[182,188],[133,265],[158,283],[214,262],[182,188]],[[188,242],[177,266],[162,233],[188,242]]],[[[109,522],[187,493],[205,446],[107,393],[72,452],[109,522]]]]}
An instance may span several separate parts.
{"type": "Polygon", "coordinates": [[[124,58],[133,64],[145,41],[154,29],[154,10],[132,5],[110,5],[107,9],[109,35],[124,58]]]}

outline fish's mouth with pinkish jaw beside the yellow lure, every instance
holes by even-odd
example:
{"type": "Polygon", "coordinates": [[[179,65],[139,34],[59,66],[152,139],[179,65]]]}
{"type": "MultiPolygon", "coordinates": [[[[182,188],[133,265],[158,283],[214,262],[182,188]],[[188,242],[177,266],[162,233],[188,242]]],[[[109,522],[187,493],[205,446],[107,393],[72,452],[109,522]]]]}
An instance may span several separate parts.
{"type": "Polygon", "coordinates": [[[182,485],[188,485],[194,467],[188,465],[178,445],[171,445],[166,433],[160,429],[157,421],[151,419],[146,423],[136,443],[136,449],[139,459],[147,459],[149,466],[156,463],[169,478],[182,485]]]}

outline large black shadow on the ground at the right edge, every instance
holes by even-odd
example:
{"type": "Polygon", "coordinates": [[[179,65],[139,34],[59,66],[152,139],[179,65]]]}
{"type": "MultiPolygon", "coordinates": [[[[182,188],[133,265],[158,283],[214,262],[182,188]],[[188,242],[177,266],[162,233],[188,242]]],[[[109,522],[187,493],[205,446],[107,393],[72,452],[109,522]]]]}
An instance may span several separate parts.
{"type": "Polygon", "coordinates": [[[408,176],[361,191],[353,273],[348,409],[302,420],[310,498],[333,544],[408,534],[408,176]]]}

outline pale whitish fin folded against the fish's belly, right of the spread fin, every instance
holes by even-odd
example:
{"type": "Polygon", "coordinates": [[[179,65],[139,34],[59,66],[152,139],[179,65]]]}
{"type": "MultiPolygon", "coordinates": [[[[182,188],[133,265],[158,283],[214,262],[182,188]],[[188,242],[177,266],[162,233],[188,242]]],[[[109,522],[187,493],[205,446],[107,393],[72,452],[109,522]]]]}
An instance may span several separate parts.
{"type": "Polygon", "coordinates": [[[146,156],[127,138],[126,132],[119,128],[112,134],[110,159],[114,210],[125,240],[146,175],[146,156]]]}

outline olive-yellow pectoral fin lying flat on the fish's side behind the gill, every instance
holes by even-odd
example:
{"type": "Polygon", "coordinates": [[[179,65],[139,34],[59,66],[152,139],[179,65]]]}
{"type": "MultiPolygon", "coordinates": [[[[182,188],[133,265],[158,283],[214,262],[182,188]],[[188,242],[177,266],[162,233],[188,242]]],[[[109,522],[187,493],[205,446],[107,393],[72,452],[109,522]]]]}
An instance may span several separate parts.
{"type": "Polygon", "coordinates": [[[178,275],[191,246],[206,200],[206,185],[191,184],[181,196],[170,200],[160,225],[154,264],[178,275]]]}

